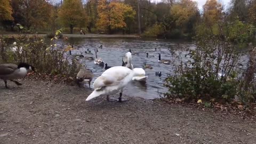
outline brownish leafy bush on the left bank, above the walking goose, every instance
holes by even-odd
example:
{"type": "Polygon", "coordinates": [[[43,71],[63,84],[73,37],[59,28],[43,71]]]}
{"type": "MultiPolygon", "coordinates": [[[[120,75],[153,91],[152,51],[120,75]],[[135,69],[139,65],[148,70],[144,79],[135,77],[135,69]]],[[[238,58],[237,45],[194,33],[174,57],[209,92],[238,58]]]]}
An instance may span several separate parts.
{"type": "Polygon", "coordinates": [[[28,62],[36,68],[37,73],[74,78],[81,65],[77,65],[75,62],[70,64],[65,57],[66,52],[54,43],[60,33],[61,31],[58,30],[55,38],[52,38],[51,45],[46,43],[46,39],[21,35],[13,39],[16,44],[11,44],[8,47],[7,39],[1,38],[3,49],[0,62],[28,62]]]}

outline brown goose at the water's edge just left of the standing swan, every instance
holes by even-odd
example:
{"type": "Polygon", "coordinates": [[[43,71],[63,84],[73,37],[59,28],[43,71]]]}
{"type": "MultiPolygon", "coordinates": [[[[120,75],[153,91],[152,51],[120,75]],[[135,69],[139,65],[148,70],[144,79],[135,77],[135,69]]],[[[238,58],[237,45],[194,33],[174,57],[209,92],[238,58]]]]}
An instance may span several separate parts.
{"type": "Polygon", "coordinates": [[[93,78],[92,71],[87,69],[84,66],[77,73],[77,75],[76,75],[76,82],[77,82],[79,87],[81,87],[81,84],[84,84],[84,83],[88,82],[89,83],[89,88],[91,88],[92,78],[93,78]]]}

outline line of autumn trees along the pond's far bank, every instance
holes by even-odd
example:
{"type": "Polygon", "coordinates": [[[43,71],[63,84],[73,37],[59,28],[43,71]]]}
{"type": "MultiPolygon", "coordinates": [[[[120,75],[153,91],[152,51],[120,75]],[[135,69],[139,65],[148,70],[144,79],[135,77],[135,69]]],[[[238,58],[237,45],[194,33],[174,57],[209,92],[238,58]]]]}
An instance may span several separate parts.
{"type": "MultiPolygon", "coordinates": [[[[217,0],[207,0],[200,13],[191,0],[0,0],[2,29],[15,30],[17,23],[29,31],[69,33],[142,34],[180,38],[194,36],[204,23],[212,28],[218,21],[237,19],[256,25],[256,0],[232,0],[228,10],[217,0]]],[[[22,28],[23,28],[22,27],[22,28]]]]}

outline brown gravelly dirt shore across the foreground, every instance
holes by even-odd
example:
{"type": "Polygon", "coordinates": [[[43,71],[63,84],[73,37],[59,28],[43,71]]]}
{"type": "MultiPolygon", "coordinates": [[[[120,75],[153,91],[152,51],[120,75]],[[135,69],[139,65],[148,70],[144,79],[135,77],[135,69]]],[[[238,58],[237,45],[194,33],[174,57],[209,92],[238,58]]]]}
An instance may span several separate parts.
{"type": "Polygon", "coordinates": [[[0,85],[0,143],[256,143],[256,124],[157,100],[86,102],[92,90],[22,79],[0,85]]]}

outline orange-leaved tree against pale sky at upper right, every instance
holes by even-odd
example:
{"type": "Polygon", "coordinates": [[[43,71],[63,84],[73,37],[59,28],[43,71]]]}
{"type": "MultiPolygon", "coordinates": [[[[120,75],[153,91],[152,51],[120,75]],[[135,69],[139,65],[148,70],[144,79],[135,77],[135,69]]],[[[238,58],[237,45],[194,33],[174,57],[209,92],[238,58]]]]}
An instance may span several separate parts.
{"type": "Polygon", "coordinates": [[[203,19],[206,25],[213,26],[214,23],[220,20],[222,14],[222,5],[217,0],[207,0],[203,6],[203,19]]]}

